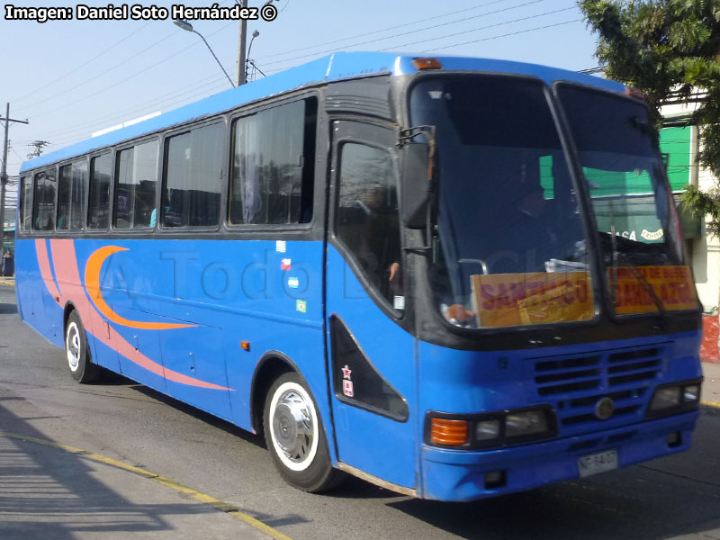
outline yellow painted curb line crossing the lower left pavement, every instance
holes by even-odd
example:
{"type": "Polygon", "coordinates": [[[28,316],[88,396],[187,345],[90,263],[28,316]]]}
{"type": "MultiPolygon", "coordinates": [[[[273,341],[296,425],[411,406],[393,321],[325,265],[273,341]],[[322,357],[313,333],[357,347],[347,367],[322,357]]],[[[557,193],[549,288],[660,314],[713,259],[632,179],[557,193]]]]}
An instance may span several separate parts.
{"type": "Polygon", "coordinates": [[[181,483],[177,483],[173,480],[170,480],[169,478],[160,476],[159,474],[150,473],[149,471],[146,471],[145,469],[140,469],[139,467],[135,467],[130,464],[124,464],[120,461],[112,459],[112,457],[107,457],[105,455],[100,455],[100,454],[94,454],[94,452],[88,452],[87,450],[83,450],[82,448],[76,448],[75,446],[61,445],[61,444],[55,443],[53,441],[48,441],[48,440],[40,439],[40,438],[36,438],[36,437],[25,437],[23,435],[15,435],[13,433],[4,433],[2,431],[0,431],[0,437],[7,437],[7,438],[18,439],[21,441],[28,441],[30,443],[35,443],[35,444],[42,445],[42,446],[51,446],[53,448],[58,448],[58,450],[64,450],[65,452],[68,452],[70,454],[80,455],[82,457],[86,457],[87,459],[92,459],[93,461],[99,462],[101,464],[111,465],[112,467],[122,469],[123,471],[128,471],[129,473],[137,474],[139,476],[147,478],[148,480],[157,482],[157,483],[165,486],[166,488],[170,488],[171,490],[175,490],[180,493],[190,495],[190,496],[192,496],[192,498],[194,500],[197,500],[198,502],[202,502],[203,504],[208,504],[215,509],[219,509],[221,512],[225,512],[226,514],[228,514],[228,516],[239,519],[240,521],[247,523],[247,525],[249,525],[250,527],[257,528],[257,530],[265,533],[267,536],[271,536],[271,537],[275,538],[275,540],[292,540],[292,538],[290,536],[285,536],[280,531],[275,530],[273,527],[266,525],[265,523],[257,520],[256,518],[252,518],[251,516],[248,516],[246,513],[241,512],[237,507],[232,506],[231,504],[229,504],[227,502],[223,502],[221,500],[215,499],[214,497],[211,497],[210,495],[207,495],[205,493],[201,493],[200,491],[193,490],[193,488],[188,488],[187,486],[184,486],[181,483]]]}

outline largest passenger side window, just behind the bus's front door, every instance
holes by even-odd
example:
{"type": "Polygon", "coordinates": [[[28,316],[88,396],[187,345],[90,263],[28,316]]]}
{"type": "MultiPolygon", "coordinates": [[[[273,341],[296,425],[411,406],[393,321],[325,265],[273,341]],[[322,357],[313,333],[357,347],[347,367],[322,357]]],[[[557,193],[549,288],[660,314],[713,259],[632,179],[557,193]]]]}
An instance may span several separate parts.
{"type": "Polygon", "coordinates": [[[234,122],[231,224],[310,222],[316,111],[311,98],[234,122]]]}

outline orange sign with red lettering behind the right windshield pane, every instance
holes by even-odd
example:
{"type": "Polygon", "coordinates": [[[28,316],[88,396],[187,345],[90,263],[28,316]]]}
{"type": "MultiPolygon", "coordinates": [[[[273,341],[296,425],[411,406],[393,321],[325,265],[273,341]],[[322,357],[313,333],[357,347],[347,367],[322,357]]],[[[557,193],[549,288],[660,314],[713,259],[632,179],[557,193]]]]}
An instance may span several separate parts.
{"type": "MultiPolygon", "coordinates": [[[[608,268],[609,283],[612,280],[613,269],[608,268]]],[[[658,311],[649,287],[664,310],[698,309],[689,266],[620,266],[617,268],[616,312],[626,315],[658,311]]]]}

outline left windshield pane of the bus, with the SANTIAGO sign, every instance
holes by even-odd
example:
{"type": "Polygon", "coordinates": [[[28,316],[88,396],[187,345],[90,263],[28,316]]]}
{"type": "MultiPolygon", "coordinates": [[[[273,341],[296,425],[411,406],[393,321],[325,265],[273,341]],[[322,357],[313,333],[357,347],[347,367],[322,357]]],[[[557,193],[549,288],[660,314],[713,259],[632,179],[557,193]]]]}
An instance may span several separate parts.
{"type": "Polygon", "coordinates": [[[437,126],[431,281],[446,319],[481,328],[592,318],[585,233],[544,85],[426,79],[410,115],[437,126]]]}

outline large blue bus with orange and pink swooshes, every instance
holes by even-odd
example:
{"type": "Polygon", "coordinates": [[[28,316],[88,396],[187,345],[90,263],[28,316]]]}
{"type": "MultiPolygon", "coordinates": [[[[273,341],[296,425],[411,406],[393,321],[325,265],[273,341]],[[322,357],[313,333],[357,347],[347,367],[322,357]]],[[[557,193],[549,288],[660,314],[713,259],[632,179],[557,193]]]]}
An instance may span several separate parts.
{"type": "Polygon", "coordinates": [[[342,52],[36,157],[19,201],[20,316],[76,381],[264,434],[302,490],[475,500],[690,445],[698,299],[617,82],[342,52]]]}

